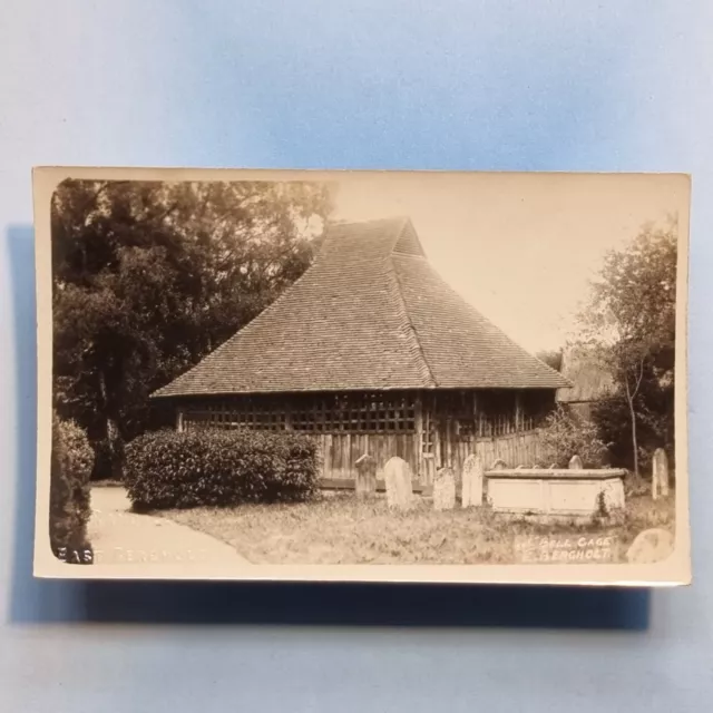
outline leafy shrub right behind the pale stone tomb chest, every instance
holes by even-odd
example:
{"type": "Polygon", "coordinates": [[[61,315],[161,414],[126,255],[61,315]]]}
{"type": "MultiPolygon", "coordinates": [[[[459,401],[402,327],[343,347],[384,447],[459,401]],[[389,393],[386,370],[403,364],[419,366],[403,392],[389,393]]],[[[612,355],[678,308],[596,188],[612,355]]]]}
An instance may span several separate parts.
{"type": "Polygon", "coordinates": [[[599,468],[607,460],[607,447],[597,427],[561,406],[547,417],[541,440],[546,456],[540,465],[545,467],[555,463],[566,468],[573,456],[579,456],[585,468],[599,468]]]}

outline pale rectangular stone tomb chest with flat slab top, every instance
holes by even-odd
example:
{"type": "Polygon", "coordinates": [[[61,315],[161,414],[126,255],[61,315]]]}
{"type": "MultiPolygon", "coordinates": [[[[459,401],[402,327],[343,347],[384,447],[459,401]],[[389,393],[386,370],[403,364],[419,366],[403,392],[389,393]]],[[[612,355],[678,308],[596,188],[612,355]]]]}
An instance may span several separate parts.
{"type": "Polygon", "coordinates": [[[592,518],[624,507],[621,469],[488,470],[486,497],[494,511],[592,518]]]}

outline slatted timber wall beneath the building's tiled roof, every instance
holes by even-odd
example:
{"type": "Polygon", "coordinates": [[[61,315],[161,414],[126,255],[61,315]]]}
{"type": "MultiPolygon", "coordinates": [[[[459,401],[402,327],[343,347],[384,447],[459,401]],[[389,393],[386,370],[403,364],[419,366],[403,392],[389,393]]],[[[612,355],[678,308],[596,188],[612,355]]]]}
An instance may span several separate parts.
{"type": "Polygon", "coordinates": [[[554,408],[551,390],[422,390],[202,397],[177,404],[176,427],[294,430],[318,441],[324,479],[354,477],[370,453],[378,476],[387,460],[403,458],[422,485],[449,465],[460,470],[470,453],[487,463],[533,466],[538,427],[554,408]]]}

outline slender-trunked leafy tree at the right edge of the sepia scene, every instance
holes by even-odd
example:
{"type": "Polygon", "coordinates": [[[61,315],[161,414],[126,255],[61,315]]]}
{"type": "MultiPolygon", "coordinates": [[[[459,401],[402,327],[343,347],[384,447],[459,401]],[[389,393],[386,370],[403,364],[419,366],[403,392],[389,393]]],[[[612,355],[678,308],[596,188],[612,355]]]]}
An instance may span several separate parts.
{"type": "Polygon", "coordinates": [[[616,383],[595,418],[619,450],[622,434],[631,439],[637,475],[642,429],[647,447],[673,443],[676,236],[673,222],[646,226],[626,247],[609,252],[583,315],[588,341],[616,383]]]}

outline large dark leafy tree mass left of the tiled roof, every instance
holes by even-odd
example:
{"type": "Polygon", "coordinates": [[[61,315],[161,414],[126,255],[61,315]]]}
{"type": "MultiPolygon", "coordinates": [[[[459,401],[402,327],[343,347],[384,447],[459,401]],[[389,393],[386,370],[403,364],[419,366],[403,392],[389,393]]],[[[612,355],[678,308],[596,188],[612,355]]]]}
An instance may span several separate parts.
{"type": "Polygon", "coordinates": [[[65,182],[52,198],[58,411],[120,476],[148,394],[310,265],[331,209],[313,183],[65,182]]]}

